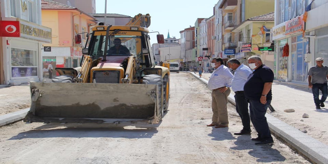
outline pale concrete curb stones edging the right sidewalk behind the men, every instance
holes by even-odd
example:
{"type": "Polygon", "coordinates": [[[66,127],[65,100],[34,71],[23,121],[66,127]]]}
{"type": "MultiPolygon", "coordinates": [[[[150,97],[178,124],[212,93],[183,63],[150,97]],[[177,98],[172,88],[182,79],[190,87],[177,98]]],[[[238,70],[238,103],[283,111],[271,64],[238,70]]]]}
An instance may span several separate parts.
{"type": "MultiPolygon", "coordinates": [[[[193,72],[191,73],[200,81],[208,85],[208,81],[203,78],[199,78],[193,72]]],[[[235,98],[232,94],[228,96],[228,101],[236,105],[235,98]]],[[[312,138],[309,135],[302,133],[296,128],[280,121],[278,118],[272,116],[269,113],[265,114],[267,118],[270,131],[286,141],[291,147],[297,149],[301,154],[308,157],[312,162],[317,164],[328,164],[328,146],[324,143],[312,138]]]]}

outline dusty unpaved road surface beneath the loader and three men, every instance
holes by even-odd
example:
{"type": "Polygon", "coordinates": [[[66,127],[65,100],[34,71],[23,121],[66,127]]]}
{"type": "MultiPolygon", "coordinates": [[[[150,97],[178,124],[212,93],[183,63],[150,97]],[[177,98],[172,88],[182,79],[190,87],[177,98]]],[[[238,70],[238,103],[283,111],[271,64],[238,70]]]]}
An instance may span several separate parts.
{"type": "MultiPolygon", "coordinates": [[[[274,137],[256,146],[228,104],[229,128],[211,122],[211,92],[187,73],[171,74],[169,111],[158,127],[105,124],[25,124],[0,127],[1,164],[308,164],[274,137]]],[[[256,137],[253,129],[252,137],[256,137]]]]}

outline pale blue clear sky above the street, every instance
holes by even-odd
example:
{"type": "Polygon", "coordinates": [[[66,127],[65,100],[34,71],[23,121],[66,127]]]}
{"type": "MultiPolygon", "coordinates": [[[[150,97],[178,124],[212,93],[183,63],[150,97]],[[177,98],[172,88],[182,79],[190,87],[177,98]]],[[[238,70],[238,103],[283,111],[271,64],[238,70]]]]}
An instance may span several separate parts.
{"type": "MultiPolygon", "coordinates": [[[[134,17],[138,13],[151,16],[149,30],[158,31],[167,38],[180,38],[180,32],[195,26],[197,18],[209,18],[218,0],[107,0],[106,13],[123,14],[134,17]]],[[[105,0],[96,0],[96,13],[105,13],[105,0]]],[[[151,43],[156,43],[156,33],[150,34],[151,43]]]]}

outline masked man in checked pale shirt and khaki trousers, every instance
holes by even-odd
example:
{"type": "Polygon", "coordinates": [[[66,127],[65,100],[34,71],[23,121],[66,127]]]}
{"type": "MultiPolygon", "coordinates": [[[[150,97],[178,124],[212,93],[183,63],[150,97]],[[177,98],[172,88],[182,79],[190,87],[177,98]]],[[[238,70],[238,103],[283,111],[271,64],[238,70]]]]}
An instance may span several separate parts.
{"type": "Polygon", "coordinates": [[[207,126],[215,126],[215,128],[228,127],[228,111],[227,103],[230,94],[229,87],[234,75],[229,68],[223,65],[220,57],[212,58],[212,68],[215,68],[208,80],[208,87],[212,90],[212,123],[207,126]]]}

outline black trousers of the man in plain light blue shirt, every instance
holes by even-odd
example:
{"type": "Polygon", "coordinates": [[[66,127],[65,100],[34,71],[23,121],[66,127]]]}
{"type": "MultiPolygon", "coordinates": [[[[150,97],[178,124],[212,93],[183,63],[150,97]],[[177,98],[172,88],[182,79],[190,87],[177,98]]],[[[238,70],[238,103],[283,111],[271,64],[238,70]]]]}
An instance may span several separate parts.
{"type": "Polygon", "coordinates": [[[248,114],[248,102],[245,99],[244,91],[235,92],[236,111],[241,118],[243,129],[251,131],[250,117],[248,114]]]}

